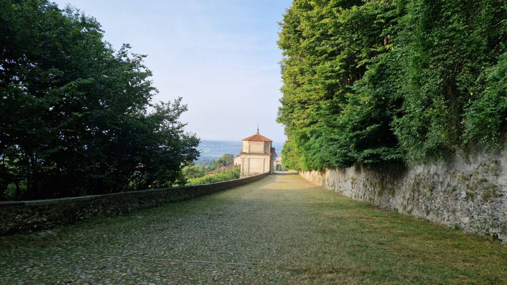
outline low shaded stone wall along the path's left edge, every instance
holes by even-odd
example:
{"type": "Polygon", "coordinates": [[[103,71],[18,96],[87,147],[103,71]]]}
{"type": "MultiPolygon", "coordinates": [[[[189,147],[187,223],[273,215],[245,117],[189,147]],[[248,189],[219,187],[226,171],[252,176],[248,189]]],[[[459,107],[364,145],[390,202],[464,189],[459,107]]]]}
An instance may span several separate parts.
{"type": "Polygon", "coordinates": [[[257,181],[262,173],[195,186],[121,192],[72,198],[0,202],[0,235],[31,232],[192,199],[257,181]]]}

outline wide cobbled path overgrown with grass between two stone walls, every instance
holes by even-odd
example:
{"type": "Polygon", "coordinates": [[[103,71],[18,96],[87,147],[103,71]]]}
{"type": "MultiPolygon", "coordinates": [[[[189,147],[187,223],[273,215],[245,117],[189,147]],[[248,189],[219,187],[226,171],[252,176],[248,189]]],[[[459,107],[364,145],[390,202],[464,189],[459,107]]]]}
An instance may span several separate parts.
{"type": "Polygon", "coordinates": [[[0,245],[0,284],[507,283],[506,245],[298,175],[0,245]]]}

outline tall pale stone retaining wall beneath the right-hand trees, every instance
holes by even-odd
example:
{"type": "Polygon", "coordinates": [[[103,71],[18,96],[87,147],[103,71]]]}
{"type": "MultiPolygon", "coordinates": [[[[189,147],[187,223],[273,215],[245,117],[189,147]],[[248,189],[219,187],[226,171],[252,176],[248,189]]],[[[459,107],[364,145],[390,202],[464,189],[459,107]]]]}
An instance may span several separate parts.
{"type": "Polygon", "coordinates": [[[347,197],[507,242],[507,150],[440,162],[300,172],[347,197]]]}

